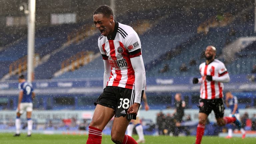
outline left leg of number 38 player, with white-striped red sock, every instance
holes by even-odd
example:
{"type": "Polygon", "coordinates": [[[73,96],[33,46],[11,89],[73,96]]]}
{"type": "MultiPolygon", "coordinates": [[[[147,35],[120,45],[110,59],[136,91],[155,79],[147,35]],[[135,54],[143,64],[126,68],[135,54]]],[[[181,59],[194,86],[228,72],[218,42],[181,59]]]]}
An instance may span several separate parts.
{"type": "Polygon", "coordinates": [[[89,135],[86,144],[101,144],[102,130],[113,116],[114,109],[97,104],[89,125],[89,135]]]}

